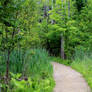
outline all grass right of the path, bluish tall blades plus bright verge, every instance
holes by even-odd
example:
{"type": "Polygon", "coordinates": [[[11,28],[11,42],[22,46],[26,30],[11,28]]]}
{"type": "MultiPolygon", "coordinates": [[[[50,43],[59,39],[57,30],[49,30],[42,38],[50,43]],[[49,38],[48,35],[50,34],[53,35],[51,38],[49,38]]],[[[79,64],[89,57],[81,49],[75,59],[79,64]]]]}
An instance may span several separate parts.
{"type": "Polygon", "coordinates": [[[71,67],[80,72],[92,89],[92,55],[90,51],[76,50],[71,67]]]}

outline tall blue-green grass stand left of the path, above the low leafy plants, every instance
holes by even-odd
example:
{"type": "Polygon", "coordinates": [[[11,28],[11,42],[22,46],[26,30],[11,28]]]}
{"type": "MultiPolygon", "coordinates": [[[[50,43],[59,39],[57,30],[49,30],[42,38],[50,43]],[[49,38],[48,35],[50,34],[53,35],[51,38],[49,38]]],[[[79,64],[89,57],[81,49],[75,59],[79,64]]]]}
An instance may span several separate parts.
{"type": "MultiPolygon", "coordinates": [[[[0,73],[6,70],[6,56],[0,56],[0,73]]],[[[48,52],[44,49],[14,50],[10,55],[9,70],[13,73],[36,75],[41,72],[52,72],[48,52]]]]}

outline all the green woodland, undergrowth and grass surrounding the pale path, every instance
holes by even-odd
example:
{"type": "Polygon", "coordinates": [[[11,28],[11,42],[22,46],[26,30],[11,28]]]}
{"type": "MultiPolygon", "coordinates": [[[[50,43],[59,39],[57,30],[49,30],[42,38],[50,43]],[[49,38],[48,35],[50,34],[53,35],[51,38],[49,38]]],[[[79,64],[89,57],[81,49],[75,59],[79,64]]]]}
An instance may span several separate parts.
{"type": "Polygon", "coordinates": [[[0,0],[2,92],[52,92],[53,60],[92,88],[91,52],[92,0],[0,0]]]}

